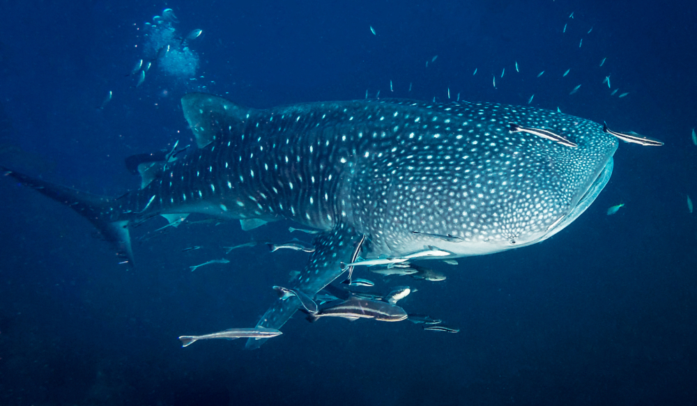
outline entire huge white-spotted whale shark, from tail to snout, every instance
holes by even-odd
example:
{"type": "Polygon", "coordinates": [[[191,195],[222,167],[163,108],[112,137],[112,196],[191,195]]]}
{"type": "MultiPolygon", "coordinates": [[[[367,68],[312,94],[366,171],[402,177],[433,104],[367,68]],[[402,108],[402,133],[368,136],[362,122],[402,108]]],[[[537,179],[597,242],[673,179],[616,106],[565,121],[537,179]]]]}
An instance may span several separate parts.
{"type": "MultiPolygon", "coordinates": [[[[504,104],[381,99],[258,110],[190,93],[182,107],[197,150],[147,166],[141,189],[119,198],[6,175],[70,205],[130,264],[130,228],[157,215],[316,228],[316,250],[290,287],[314,298],[362,240],[365,258],[429,247],[454,258],[542,242],[595,200],[618,148],[598,123],[504,104]],[[576,147],[510,132],[511,123],[576,147]]],[[[299,307],[297,297],[279,299],[257,327],[279,329],[299,307]]]]}

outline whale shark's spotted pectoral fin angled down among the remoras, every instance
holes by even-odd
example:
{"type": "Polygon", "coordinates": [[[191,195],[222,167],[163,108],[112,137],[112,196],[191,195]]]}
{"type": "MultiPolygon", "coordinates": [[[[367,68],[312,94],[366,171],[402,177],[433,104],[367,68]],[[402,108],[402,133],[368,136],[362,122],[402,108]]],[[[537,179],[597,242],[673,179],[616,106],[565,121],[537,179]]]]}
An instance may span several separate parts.
{"type": "MultiPolygon", "coordinates": [[[[351,260],[353,249],[360,241],[361,236],[356,233],[354,228],[344,224],[338,224],[332,231],[319,234],[313,242],[316,249],[310,256],[305,270],[302,270],[298,275],[298,283],[293,286],[293,289],[301,290],[312,298],[317,292],[332,283],[344,273],[339,263],[342,260],[351,260]]],[[[297,296],[289,297],[285,301],[277,300],[264,313],[256,327],[280,329],[301,306],[297,296]]],[[[247,350],[259,348],[267,339],[254,340],[250,338],[247,340],[245,348],[247,350]]]]}

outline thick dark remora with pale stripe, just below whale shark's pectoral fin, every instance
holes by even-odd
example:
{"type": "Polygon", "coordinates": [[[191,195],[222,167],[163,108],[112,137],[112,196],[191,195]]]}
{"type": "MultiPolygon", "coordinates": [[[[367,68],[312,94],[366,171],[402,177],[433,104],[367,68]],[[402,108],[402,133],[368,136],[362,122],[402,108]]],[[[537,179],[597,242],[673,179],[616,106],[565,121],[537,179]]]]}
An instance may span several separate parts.
{"type": "Polygon", "coordinates": [[[314,322],[322,317],[341,317],[351,321],[373,318],[381,322],[400,322],[407,315],[404,309],[394,304],[351,296],[344,302],[321,309],[317,314],[307,315],[307,320],[314,322]]]}

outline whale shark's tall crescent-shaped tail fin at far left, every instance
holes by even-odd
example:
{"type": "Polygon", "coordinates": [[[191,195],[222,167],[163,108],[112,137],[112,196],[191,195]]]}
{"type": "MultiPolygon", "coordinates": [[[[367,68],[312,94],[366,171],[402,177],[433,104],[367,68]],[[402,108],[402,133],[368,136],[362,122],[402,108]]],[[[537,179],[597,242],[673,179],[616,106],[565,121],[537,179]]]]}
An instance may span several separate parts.
{"type": "Polygon", "coordinates": [[[80,192],[70,187],[55,185],[38,178],[11,171],[0,166],[4,175],[14,178],[22,185],[36,189],[37,192],[63,203],[88,219],[108,242],[116,248],[116,253],[129,265],[133,265],[128,219],[114,214],[116,203],[113,198],[80,192]]]}

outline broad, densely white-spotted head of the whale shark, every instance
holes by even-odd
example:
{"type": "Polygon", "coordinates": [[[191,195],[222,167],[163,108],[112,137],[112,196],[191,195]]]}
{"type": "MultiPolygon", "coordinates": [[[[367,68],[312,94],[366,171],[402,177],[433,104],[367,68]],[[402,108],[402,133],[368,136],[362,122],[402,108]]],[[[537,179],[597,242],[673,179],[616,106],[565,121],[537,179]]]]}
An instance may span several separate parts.
{"type": "Polygon", "coordinates": [[[618,141],[598,123],[530,107],[449,106],[420,118],[430,127],[418,148],[397,147],[374,169],[390,173],[374,253],[434,245],[472,256],[534,244],[571,224],[610,178],[618,141]]]}

